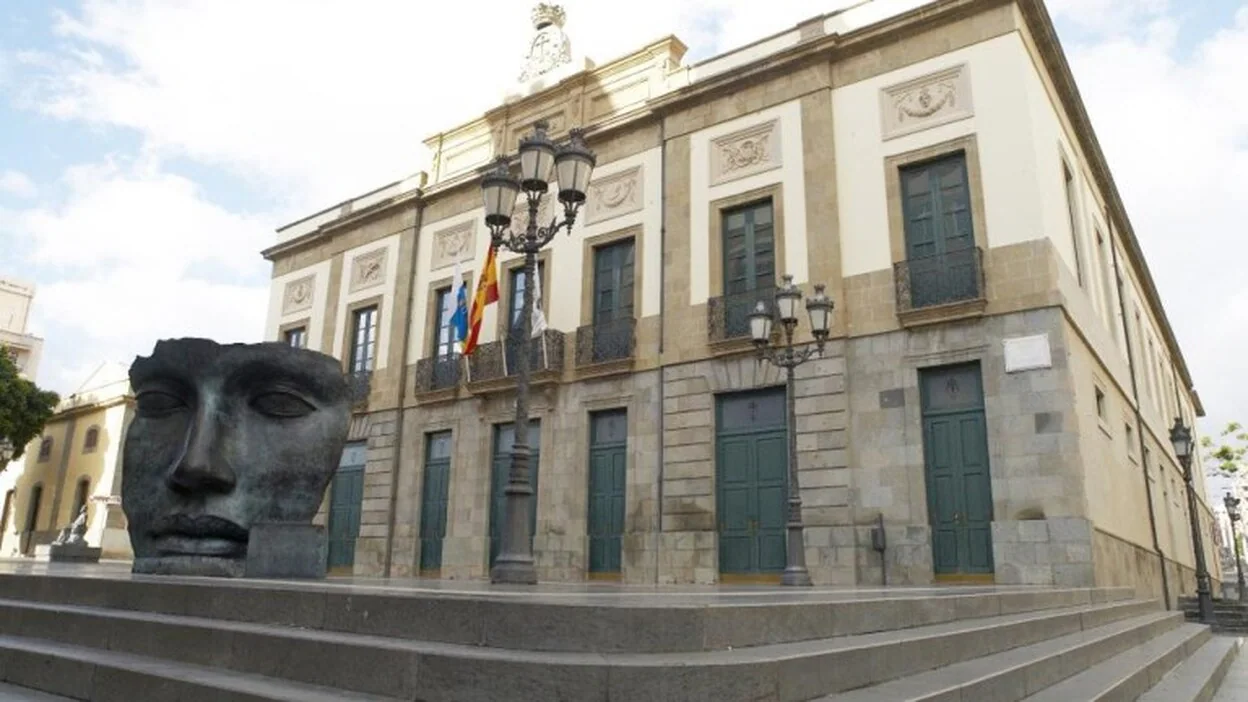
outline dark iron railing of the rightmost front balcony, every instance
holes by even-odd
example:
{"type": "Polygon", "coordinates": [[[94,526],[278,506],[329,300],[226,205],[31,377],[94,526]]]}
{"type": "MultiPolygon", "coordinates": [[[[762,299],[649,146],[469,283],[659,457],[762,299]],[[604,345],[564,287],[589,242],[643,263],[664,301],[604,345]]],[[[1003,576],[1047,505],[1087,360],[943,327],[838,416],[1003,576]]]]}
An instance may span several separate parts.
{"type": "Polygon", "coordinates": [[[977,247],[900,261],[892,274],[899,312],[983,297],[983,252],[977,247]]]}

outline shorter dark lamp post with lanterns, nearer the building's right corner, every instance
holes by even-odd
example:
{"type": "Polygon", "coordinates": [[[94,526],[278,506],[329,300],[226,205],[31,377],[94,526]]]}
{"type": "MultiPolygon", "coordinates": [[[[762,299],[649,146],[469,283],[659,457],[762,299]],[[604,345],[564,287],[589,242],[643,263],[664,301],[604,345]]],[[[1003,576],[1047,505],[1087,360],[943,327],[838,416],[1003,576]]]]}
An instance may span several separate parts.
{"type": "Polygon", "coordinates": [[[801,302],[801,290],[792,284],[792,276],[784,276],[784,285],[775,292],[775,316],[784,327],[784,346],[771,346],[773,314],[760,300],[750,312],[750,336],[758,349],[759,358],[785,370],[785,390],[789,411],[789,520],[785,525],[785,567],[780,585],[809,587],[810,572],[806,570],[806,543],[801,521],[801,486],[797,483],[797,398],[795,396],[794,370],[814,355],[824,355],[827,342],[827,327],[832,320],[832,301],[824,294],[824,285],[815,285],[815,295],[806,300],[806,314],[810,315],[810,332],[815,344],[794,346],[792,332],[797,329],[797,304],[801,302]]]}

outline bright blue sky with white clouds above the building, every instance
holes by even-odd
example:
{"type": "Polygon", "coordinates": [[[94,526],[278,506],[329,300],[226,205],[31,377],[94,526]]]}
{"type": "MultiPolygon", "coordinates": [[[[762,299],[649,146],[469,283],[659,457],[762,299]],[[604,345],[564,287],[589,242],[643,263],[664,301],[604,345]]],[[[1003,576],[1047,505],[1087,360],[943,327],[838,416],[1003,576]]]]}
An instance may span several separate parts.
{"type": "MultiPolygon", "coordinates": [[[[567,0],[602,62],[696,61],[849,0],[567,0]]],[[[283,224],[416,172],[500,102],[532,2],[0,0],[0,276],[37,285],[39,382],[156,339],[255,341],[283,224]]],[[[1248,420],[1248,0],[1048,0],[1209,413],[1248,420]],[[1231,261],[1226,271],[1213,264],[1231,261]]]]}

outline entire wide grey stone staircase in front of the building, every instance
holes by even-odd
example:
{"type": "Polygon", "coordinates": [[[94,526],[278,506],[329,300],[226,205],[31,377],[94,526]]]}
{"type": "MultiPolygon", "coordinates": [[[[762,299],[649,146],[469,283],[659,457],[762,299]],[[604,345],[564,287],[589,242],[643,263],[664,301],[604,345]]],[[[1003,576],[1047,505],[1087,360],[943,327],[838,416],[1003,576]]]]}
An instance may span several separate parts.
{"type": "Polygon", "coordinates": [[[0,573],[0,676],[70,700],[1209,700],[1238,653],[1124,588],[559,588],[0,573]]]}

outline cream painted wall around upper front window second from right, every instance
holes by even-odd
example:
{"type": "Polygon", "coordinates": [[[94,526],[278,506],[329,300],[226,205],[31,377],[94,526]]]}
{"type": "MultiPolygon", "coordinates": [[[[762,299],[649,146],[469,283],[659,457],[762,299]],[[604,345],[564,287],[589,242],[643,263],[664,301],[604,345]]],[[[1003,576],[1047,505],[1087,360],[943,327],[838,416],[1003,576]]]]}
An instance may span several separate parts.
{"type": "MultiPolygon", "coordinates": [[[[810,277],[806,261],[806,184],[802,172],[801,102],[797,100],[754,112],[713,127],[695,131],[689,140],[689,302],[701,305],[711,295],[710,290],[710,210],[709,202],[731,197],[773,184],[784,187],[784,249],[785,260],[780,275],[791,274],[794,282],[802,284],[810,277]],[[780,120],[780,167],[743,179],[710,185],[710,142],[714,139],[780,120]]],[[[779,279],[779,276],[778,276],[779,279]]],[[[779,284],[779,280],[776,281],[779,284]]]]}

